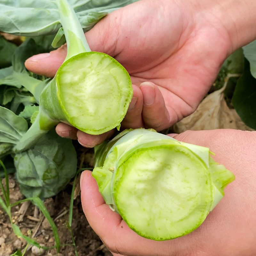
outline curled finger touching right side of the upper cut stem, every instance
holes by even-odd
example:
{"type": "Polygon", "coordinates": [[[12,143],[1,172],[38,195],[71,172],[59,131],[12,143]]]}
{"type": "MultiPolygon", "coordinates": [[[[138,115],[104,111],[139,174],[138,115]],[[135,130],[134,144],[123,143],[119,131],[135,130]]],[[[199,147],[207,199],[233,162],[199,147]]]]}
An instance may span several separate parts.
{"type": "Polygon", "coordinates": [[[143,106],[143,95],[140,88],[136,85],[133,87],[133,96],[126,116],[122,121],[122,127],[124,128],[140,128],[144,127],[141,112],[143,106]]]}

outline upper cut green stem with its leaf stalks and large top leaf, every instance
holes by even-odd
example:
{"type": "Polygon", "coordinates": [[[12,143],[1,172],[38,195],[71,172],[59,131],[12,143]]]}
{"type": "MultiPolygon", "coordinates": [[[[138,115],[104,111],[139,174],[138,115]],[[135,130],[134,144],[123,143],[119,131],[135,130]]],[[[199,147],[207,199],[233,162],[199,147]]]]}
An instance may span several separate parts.
{"type": "Polygon", "coordinates": [[[89,134],[119,129],[132,99],[131,78],[114,58],[92,52],[84,30],[133,1],[0,1],[0,30],[23,36],[57,33],[53,45],[67,42],[67,57],[39,99],[39,113],[16,151],[33,146],[59,122],[89,134]],[[27,12],[26,12],[27,11],[27,12]],[[51,16],[52,15],[52,16],[51,16]]]}

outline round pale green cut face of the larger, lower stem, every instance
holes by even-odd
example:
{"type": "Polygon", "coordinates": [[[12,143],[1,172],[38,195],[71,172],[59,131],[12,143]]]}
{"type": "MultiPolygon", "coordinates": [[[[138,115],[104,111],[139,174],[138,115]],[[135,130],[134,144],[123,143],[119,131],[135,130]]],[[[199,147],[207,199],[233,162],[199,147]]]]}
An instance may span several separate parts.
{"type": "Polygon", "coordinates": [[[154,240],[193,231],[205,220],[213,201],[205,165],[177,145],[134,152],[118,167],[112,191],[129,227],[154,240]]]}

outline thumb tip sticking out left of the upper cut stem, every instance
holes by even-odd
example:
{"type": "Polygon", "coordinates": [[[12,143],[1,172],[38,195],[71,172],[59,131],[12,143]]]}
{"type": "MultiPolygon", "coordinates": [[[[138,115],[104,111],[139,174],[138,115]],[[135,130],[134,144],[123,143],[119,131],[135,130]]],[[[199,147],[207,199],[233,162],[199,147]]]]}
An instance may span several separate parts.
{"type": "Polygon", "coordinates": [[[67,55],[67,46],[62,45],[50,53],[41,53],[30,57],[25,62],[28,70],[42,76],[53,77],[58,68],[65,60],[67,55]]]}

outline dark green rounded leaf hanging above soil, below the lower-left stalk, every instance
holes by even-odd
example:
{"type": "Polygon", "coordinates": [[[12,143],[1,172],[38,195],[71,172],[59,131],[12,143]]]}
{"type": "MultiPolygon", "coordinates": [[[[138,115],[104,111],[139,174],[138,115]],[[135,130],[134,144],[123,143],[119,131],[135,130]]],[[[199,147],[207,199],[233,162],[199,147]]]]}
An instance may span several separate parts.
{"type": "Polygon", "coordinates": [[[71,140],[53,129],[31,149],[17,153],[14,164],[22,194],[44,199],[58,194],[75,176],[76,151],[71,140]]]}

